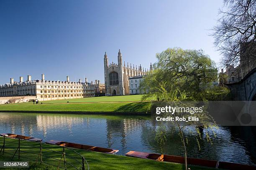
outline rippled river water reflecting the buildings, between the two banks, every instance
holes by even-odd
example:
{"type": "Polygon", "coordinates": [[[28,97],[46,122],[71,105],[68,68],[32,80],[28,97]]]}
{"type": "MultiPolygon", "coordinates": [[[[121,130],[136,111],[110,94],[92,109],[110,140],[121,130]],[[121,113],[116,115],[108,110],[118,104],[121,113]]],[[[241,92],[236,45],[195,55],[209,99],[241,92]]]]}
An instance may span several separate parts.
{"type": "MultiPolygon", "coordinates": [[[[182,156],[179,132],[164,126],[164,143],[159,143],[159,124],[148,116],[68,115],[39,113],[0,113],[0,133],[15,133],[44,140],[63,140],[119,150],[130,150],[182,156]]],[[[161,126],[162,127],[162,126],[161,126]]],[[[163,128],[161,128],[163,129],[163,128]]],[[[202,131],[198,142],[195,129],[187,128],[188,157],[256,165],[256,128],[220,127],[202,131]]]]}

